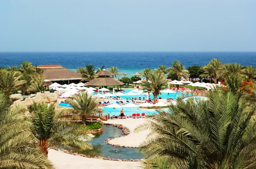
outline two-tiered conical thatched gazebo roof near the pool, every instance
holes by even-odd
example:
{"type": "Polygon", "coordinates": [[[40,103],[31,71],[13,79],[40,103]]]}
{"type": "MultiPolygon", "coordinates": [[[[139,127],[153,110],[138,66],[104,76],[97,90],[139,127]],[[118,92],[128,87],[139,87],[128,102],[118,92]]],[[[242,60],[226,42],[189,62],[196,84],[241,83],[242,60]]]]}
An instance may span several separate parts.
{"type": "Polygon", "coordinates": [[[124,85],[123,82],[120,82],[111,76],[113,76],[113,73],[107,71],[107,70],[101,70],[100,72],[96,73],[97,77],[96,79],[91,80],[90,82],[85,83],[84,85],[90,85],[90,86],[116,86],[116,85],[124,85]]]}

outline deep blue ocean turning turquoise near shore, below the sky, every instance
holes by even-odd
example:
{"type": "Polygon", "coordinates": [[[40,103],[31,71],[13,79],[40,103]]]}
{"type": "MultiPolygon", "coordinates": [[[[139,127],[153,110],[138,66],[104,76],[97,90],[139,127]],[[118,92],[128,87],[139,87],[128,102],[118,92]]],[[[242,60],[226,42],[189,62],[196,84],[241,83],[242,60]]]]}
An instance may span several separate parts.
{"type": "Polygon", "coordinates": [[[20,66],[23,61],[33,65],[62,65],[74,70],[79,66],[92,64],[105,68],[115,66],[123,73],[133,76],[144,68],[166,68],[177,60],[185,68],[192,65],[207,65],[211,59],[217,58],[222,63],[237,62],[243,66],[256,67],[256,52],[0,52],[0,66],[20,66]]]}

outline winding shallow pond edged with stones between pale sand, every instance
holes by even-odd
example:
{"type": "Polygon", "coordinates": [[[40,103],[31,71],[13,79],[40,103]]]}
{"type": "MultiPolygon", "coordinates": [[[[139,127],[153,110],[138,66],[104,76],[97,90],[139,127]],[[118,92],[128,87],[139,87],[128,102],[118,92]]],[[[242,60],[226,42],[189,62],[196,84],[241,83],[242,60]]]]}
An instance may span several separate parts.
{"type": "Polygon", "coordinates": [[[140,152],[136,152],[136,148],[114,147],[106,144],[104,141],[108,138],[116,138],[122,136],[122,130],[110,125],[102,125],[104,132],[96,134],[90,143],[93,145],[92,150],[77,150],[72,149],[74,152],[79,152],[84,155],[101,156],[106,158],[119,158],[119,159],[141,159],[143,158],[140,152]]]}

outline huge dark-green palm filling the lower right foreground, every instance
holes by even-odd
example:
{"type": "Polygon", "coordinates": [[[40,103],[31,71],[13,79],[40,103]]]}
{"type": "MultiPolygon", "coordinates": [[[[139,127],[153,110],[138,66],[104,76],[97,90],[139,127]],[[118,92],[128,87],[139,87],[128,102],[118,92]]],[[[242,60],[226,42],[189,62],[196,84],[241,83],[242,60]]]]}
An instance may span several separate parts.
{"type": "Polygon", "coordinates": [[[148,122],[135,129],[151,131],[140,145],[147,157],[144,168],[154,168],[156,158],[175,169],[256,167],[255,102],[249,107],[240,93],[220,88],[205,101],[178,99],[169,111],[146,117],[148,122]]]}

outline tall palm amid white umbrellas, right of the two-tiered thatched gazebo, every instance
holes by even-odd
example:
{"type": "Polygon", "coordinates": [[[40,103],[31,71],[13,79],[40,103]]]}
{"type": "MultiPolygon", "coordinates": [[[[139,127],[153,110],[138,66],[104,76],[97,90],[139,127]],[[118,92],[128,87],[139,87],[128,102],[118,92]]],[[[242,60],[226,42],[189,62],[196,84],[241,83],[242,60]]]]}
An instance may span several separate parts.
{"type": "Polygon", "coordinates": [[[145,90],[150,90],[153,93],[155,104],[157,96],[160,94],[160,90],[168,84],[168,80],[166,79],[166,76],[164,76],[163,72],[160,71],[154,71],[149,74],[148,78],[151,82],[143,81],[141,86],[145,90]]]}

